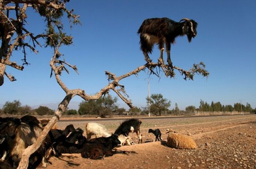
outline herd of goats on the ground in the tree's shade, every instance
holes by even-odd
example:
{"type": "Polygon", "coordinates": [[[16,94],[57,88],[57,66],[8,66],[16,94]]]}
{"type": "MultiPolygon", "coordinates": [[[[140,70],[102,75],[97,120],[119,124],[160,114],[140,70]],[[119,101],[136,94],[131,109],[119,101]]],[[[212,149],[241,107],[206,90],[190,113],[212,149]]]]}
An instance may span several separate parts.
{"type": "MultiPolygon", "coordinates": [[[[32,115],[25,115],[22,118],[0,117],[0,169],[17,168],[22,151],[36,141],[47,122],[39,121],[32,115]]],[[[129,133],[136,133],[139,138],[138,143],[142,143],[141,123],[141,119],[125,120],[114,134],[111,134],[105,126],[94,122],[86,124],[85,133],[80,128],[75,129],[72,124],[66,126],[64,130],[53,127],[40,148],[30,156],[29,168],[36,168],[41,162],[42,166],[46,167],[50,156],[59,157],[62,153],[81,153],[83,158],[94,160],[113,156],[115,153],[125,153],[114,151],[113,148],[134,144],[129,133]],[[94,138],[91,137],[92,135],[94,138]]],[[[148,133],[153,133],[156,141],[161,139],[159,129],[149,129],[148,133]]]]}

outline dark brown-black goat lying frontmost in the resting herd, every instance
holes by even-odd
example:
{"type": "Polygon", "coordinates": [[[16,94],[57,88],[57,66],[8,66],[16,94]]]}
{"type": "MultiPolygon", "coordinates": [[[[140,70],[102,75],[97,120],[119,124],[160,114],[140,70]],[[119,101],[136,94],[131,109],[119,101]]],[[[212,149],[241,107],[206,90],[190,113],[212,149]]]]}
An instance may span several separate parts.
{"type": "Polygon", "coordinates": [[[97,138],[95,142],[84,144],[81,155],[83,158],[99,160],[103,159],[103,157],[113,156],[116,153],[125,153],[124,151],[117,152],[112,150],[118,144],[121,144],[121,142],[118,140],[118,135],[116,134],[110,137],[104,137],[103,139],[97,138]]]}

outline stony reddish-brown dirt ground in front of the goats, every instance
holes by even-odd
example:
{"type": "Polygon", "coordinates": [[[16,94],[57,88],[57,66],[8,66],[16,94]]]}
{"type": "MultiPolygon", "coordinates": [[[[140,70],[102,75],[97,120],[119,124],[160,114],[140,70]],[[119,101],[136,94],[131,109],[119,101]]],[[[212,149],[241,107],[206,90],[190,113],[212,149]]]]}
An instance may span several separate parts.
{"type": "MultiPolygon", "coordinates": [[[[166,125],[165,119],[151,127],[159,128],[162,141],[155,142],[149,127],[141,129],[143,144],[122,146],[127,154],[114,154],[104,160],[82,158],[80,154],[51,157],[47,169],[187,169],[187,168],[256,168],[256,115],[219,118],[193,123],[195,118],[179,119],[178,125],[166,125]],[[160,124],[161,123],[161,124],[160,124]],[[167,147],[167,129],[193,135],[198,149],[181,150],[167,147]],[[146,142],[146,143],[145,143],[146,142]]],[[[138,141],[136,134],[132,134],[138,141]]],[[[40,167],[39,167],[40,168],[40,167]]]]}

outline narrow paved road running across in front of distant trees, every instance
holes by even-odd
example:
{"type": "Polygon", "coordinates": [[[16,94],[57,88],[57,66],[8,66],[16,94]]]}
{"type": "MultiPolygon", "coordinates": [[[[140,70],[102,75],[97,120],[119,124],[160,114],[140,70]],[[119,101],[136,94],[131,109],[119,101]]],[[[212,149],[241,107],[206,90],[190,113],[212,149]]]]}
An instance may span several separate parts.
{"type": "MultiPolygon", "coordinates": [[[[241,114],[237,114],[241,115],[241,114]]],[[[245,114],[245,115],[250,115],[250,114],[245,114]]],[[[211,117],[212,115],[206,115],[206,116],[178,116],[178,117],[140,117],[140,119],[143,120],[153,120],[153,119],[174,119],[174,118],[196,118],[196,117],[211,117]]],[[[214,115],[214,117],[218,116],[230,116],[230,115],[214,115]]],[[[234,115],[233,115],[234,116],[234,115]]],[[[128,118],[101,118],[101,119],[75,119],[75,120],[59,120],[59,122],[104,122],[104,121],[123,121],[128,118]]]]}

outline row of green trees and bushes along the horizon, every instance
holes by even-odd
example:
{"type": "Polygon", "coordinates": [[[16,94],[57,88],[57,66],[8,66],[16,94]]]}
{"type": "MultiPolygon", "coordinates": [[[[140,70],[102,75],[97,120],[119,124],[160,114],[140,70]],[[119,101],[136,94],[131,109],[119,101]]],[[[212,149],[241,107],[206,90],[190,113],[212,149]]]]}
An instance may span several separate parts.
{"type": "MultiPolygon", "coordinates": [[[[169,110],[171,105],[171,101],[166,98],[163,98],[162,94],[152,94],[150,97],[146,98],[147,106],[142,107],[134,107],[133,109],[129,109],[126,111],[124,108],[120,108],[117,105],[117,98],[112,97],[111,95],[106,95],[105,97],[101,97],[96,101],[82,101],[79,104],[79,109],[68,110],[65,114],[68,115],[98,115],[100,117],[107,117],[112,115],[121,115],[121,114],[131,114],[131,115],[146,115],[148,113],[154,115],[162,115],[162,114],[181,114],[187,113],[192,114],[194,111],[238,111],[238,112],[251,112],[256,113],[256,108],[252,109],[249,103],[242,105],[241,103],[235,103],[232,105],[222,105],[220,102],[211,102],[211,105],[203,100],[200,100],[199,108],[195,106],[188,106],[185,108],[185,111],[181,111],[178,108],[178,104],[175,103],[175,108],[169,110]]],[[[3,106],[3,113],[8,114],[54,114],[54,110],[49,109],[46,106],[39,106],[37,109],[32,109],[30,106],[25,105],[22,106],[20,101],[6,102],[3,106]]]]}

